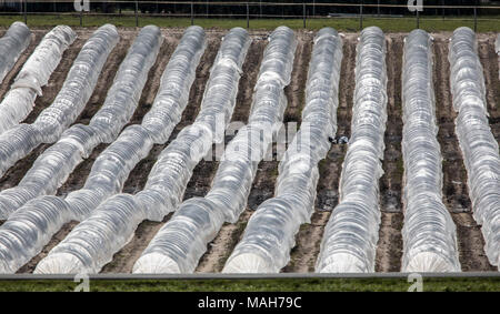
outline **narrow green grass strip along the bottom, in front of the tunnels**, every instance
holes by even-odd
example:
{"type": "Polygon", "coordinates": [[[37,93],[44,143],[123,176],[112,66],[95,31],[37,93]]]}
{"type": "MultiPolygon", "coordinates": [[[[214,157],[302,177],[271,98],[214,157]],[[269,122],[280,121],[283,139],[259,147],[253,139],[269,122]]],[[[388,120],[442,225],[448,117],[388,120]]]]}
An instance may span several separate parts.
{"type": "MultiPolygon", "coordinates": [[[[0,281],[3,291],[73,291],[72,281],[0,281]]],[[[126,292],[314,292],[314,291],[389,291],[406,292],[406,278],[282,278],[282,280],[156,280],[90,281],[90,291],[126,292]]],[[[423,278],[423,291],[500,291],[500,277],[423,278]]]]}

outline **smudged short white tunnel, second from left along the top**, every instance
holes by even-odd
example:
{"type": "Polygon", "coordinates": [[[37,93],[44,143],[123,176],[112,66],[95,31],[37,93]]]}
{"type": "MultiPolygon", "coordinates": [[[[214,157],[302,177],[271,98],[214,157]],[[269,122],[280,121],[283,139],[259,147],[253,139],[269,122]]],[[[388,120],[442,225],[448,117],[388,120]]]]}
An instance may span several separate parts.
{"type": "Polygon", "coordinates": [[[56,27],[43,37],[0,103],[0,134],[28,117],[34,99],[42,93],[41,88],[49,82],[62,53],[76,38],[77,33],[66,26],[56,27]]]}

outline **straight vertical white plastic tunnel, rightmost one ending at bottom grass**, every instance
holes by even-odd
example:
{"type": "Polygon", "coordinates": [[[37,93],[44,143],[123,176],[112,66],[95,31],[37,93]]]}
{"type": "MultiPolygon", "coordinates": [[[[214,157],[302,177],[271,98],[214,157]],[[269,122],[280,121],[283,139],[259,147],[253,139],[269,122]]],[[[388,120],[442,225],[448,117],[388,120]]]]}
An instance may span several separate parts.
{"type": "Polygon", "coordinates": [[[404,40],[402,272],[460,272],[456,225],[442,203],[431,47],[432,38],[423,30],[404,40]]]}

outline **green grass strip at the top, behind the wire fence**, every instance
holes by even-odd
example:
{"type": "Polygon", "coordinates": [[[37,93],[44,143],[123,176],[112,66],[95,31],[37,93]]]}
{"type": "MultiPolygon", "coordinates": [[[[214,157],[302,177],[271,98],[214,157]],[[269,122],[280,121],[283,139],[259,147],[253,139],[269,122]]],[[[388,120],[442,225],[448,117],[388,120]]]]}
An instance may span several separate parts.
{"type": "MultiPolygon", "coordinates": [[[[0,16],[0,26],[8,27],[13,21],[23,21],[22,16],[0,16]]],[[[99,27],[104,23],[112,23],[117,27],[136,27],[136,18],[133,16],[83,16],[83,27],[99,27]]],[[[244,19],[194,19],[194,23],[203,28],[230,29],[233,27],[247,27],[244,19]]],[[[53,27],[57,24],[67,24],[71,27],[80,26],[80,17],[78,14],[61,16],[28,16],[28,26],[30,27],[53,27]]],[[[163,28],[189,27],[191,19],[189,18],[161,18],[161,17],[140,17],[139,26],[156,24],[163,28]]],[[[288,26],[292,29],[302,29],[301,19],[261,19],[250,20],[251,29],[272,30],[278,26],[288,26]]],[[[416,28],[414,18],[366,18],[363,27],[378,26],[386,32],[408,32],[416,28]]],[[[458,27],[467,26],[472,28],[473,21],[470,18],[426,18],[420,20],[420,28],[437,31],[453,31],[458,27]]],[[[310,19],[307,21],[307,28],[318,30],[323,27],[333,27],[339,31],[358,31],[359,19],[357,18],[330,18],[330,19],[310,19]]],[[[479,32],[499,31],[500,18],[488,17],[478,21],[479,32]]]]}

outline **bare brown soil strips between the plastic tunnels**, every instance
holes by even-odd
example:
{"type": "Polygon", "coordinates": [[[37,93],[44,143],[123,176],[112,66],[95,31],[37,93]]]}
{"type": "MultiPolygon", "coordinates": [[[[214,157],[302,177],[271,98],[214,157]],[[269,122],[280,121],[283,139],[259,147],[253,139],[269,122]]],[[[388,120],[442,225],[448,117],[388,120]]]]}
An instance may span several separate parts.
{"type": "MultiPolygon", "coordinates": [[[[50,77],[48,85],[43,87],[42,95],[36,100],[36,107],[30,115],[23,121],[32,123],[38,114],[49,107],[58,91],[61,89],[64,78],[71,68],[84,42],[90,38],[94,29],[74,28],[78,38],[64,52],[61,62],[50,77]]],[[[14,68],[7,74],[0,87],[0,98],[8,92],[18,71],[23,62],[32,53],[37,44],[41,41],[48,29],[31,29],[34,39],[28,49],[22,53],[14,68]]],[[[159,57],[151,68],[144,89],[139,101],[138,109],[127,125],[137,124],[142,121],[153,103],[154,95],[159,88],[160,77],[180,41],[183,29],[162,29],[164,41],[160,48],[159,57]]],[[[166,144],[154,144],[149,155],[143,159],[130,173],[123,193],[134,194],[143,190],[148,174],[150,173],[160,152],[176,139],[182,128],[191,124],[197,117],[200,103],[203,98],[204,87],[209,79],[210,69],[214,62],[221,38],[226,31],[206,30],[207,49],[201,57],[201,61],[196,71],[196,80],[190,90],[188,107],[182,113],[181,122],[176,126],[166,144]]],[[[2,36],[4,30],[0,32],[2,36]]],[[[120,40],[111,51],[102,72],[100,73],[97,87],[87,103],[83,112],[78,117],[76,123],[88,124],[93,114],[103,103],[107,92],[113,82],[113,77],[132,44],[138,30],[119,29],[120,40]]],[[[247,122],[250,104],[252,101],[253,88],[257,82],[262,53],[268,43],[269,32],[250,31],[252,42],[248,50],[247,58],[242,67],[242,77],[239,82],[237,104],[232,115],[232,121],[247,122]]],[[[309,61],[313,47],[314,32],[296,31],[298,45],[291,73],[291,82],[284,89],[288,99],[288,107],[284,112],[283,122],[301,121],[301,112],[304,107],[304,90],[308,75],[309,61]]],[[[358,33],[344,33],[343,37],[343,59],[341,63],[339,108],[337,112],[338,131],[337,138],[350,138],[353,92],[356,87],[356,45],[358,33]]],[[[386,151],[382,161],[384,171],[380,180],[380,209],[382,212],[377,246],[376,271],[377,272],[399,272],[401,270],[402,257],[402,235],[403,225],[402,212],[402,186],[403,186],[403,162],[401,153],[402,140],[402,108],[401,108],[401,71],[403,39],[407,33],[387,33],[387,93],[388,93],[388,122],[384,134],[386,151]]],[[[464,272],[487,272],[497,271],[484,254],[484,240],[481,227],[476,223],[471,213],[471,201],[467,188],[467,172],[463,165],[462,153],[458,144],[454,131],[456,112],[452,109],[452,98],[450,91],[450,64],[448,61],[448,43],[451,32],[432,33],[433,43],[433,84],[436,92],[436,115],[439,126],[438,141],[441,145],[442,171],[443,171],[443,203],[449,210],[454,224],[457,225],[457,239],[459,260],[461,270],[464,272]]],[[[500,139],[500,81],[499,62],[494,52],[494,33],[479,33],[477,36],[479,47],[479,58],[483,67],[484,82],[487,89],[487,101],[489,111],[489,123],[497,142],[500,139]]],[[[229,143],[230,136],[226,138],[229,143]]],[[[16,186],[33,161],[40,155],[49,144],[41,144],[28,156],[18,161],[0,179],[0,191],[16,186]]],[[[71,173],[66,183],[58,189],[57,195],[64,196],[72,191],[83,186],[90,172],[92,163],[97,156],[108,146],[99,144],[92,154],[87,158],[71,173]]],[[[297,234],[297,245],[291,251],[291,260],[282,270],[286,273],[313,272],[323,229],[330,217],[331,211],[338,204],[339,179],[342,162],[348,145],[332,144],[326,160],[320,162],[320,178],[318,183],[318,194],[316,209],[310,224],[300,227],[297,234]]],[[[201,161],[194,169],[193,175],[186,190],[184,200],[193,196],[204,196],[210,190],[211,181],[218,169],[217,161],[201,161]]],[[[234,224],[224,223],[217,237],[208,245],[207,253],[201,257],[197,273],[219,273],[231,254],[234,246],[241,239],[247,222],[254,210],[267,199],[272,197],[274,183],[278,176],[278,161],[262,161],[259,164],[257,176],[253,181],[248,206],[234,224]]],[[[169,221],[172,214],[167,215],[162,222],[144,221],[140,223],[133,239],[108,263],[102,273],[131,273],[132,266],[148,246],[151,239],[160,227],[169,221]]],[[[3,222],[0,222],[0,224],[3,222]]],[[[70,222],[51,239],[42,252],[22,266],[18,273],[31,273],[37,264],[61,242],[77,225],[70,222]]]]}

